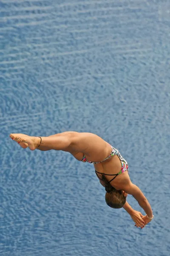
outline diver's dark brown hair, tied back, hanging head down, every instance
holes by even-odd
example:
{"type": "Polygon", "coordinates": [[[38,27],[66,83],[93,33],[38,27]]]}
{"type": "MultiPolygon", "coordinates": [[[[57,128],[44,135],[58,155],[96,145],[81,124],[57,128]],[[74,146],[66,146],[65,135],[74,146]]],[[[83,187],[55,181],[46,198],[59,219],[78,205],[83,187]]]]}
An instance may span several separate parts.
{"type": "Polygon", "coordinates": [[[111,208],[122,208],[126,203],[126,198],[120,190],[116,190],[111,184],[106,180],[105,175],[102,175],[102,180],[105,182],[105,201],[111,208]]]}

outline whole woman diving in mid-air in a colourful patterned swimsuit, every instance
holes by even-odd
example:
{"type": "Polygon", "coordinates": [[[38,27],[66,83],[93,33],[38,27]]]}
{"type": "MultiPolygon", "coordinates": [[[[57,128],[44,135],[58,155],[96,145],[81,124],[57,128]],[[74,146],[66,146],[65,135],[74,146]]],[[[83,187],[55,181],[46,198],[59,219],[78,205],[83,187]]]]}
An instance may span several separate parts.
{"type": "Polygon", "coordinates": [[[130,181],[128,165],[116,148],[91,133],[66,131],[48,137],[31,137],[26,134],[10,134],[9,137],[22,148],[62,150],[71,153],[77,160],[94,164],[102,186],[105,187],[105,201],[112,208],[123,207],[135,222],[143,228],[153,219],[152,209],[142,191],[130,181]],[[127,194],[133,195],[146,215],[135,211],[127,203],[127,194]]]}

